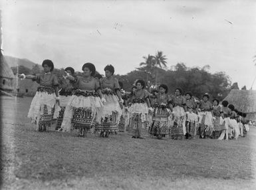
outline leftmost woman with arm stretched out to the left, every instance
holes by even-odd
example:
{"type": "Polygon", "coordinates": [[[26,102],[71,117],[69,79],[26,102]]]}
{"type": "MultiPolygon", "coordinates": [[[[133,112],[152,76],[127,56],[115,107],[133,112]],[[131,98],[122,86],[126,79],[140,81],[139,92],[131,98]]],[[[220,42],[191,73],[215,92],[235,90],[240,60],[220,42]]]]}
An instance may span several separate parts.
{"type": "Polygon", "coordinates": [[[35,123],[35,129],[39,132],[47,131],[55,119],[55,105],[59,104],[59,82],[55,74],[52,74],[54,64],[51,60],[44,60],[42,63],[44,74],[25,75],[18,74],[20,78],[36,80],[39,83],[29,108],[28,118],[35,123]]]}

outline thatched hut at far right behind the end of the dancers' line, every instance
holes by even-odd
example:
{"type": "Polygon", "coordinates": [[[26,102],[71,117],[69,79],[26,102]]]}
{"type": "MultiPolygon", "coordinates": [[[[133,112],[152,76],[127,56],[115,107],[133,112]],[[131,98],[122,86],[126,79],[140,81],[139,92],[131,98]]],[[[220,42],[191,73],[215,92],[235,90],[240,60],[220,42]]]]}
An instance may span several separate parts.
{"type": "Polygon", "coordinates": [[[246,113],[248,120],[256,121],[256,90],[231,90],[224,100],[246,113]]]}

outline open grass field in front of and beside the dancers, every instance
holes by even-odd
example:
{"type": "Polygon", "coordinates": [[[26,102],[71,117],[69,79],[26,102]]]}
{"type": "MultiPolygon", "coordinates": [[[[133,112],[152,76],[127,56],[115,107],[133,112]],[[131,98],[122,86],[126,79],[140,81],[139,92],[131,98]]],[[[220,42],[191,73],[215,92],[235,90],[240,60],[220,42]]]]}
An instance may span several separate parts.
{"type": "Polygon", "coordinates": [[[31,100],[1,96],[3,189],[256,188],[256,128],[228,142],[77,138],[35,132],[31,100]]]}

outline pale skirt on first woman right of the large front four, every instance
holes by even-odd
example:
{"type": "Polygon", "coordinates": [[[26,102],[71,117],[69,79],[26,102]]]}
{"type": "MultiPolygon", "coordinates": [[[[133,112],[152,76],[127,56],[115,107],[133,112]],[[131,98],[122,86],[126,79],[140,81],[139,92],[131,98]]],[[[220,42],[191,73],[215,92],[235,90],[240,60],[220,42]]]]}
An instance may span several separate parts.
{"type": "Polygon", "coordinates": [[[146,103],[134,103],[128,108],[130,120],[128,134],[130,136],[148,136],[148,106],[146,103]]]}

